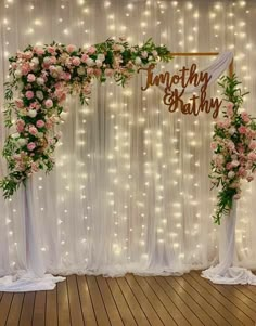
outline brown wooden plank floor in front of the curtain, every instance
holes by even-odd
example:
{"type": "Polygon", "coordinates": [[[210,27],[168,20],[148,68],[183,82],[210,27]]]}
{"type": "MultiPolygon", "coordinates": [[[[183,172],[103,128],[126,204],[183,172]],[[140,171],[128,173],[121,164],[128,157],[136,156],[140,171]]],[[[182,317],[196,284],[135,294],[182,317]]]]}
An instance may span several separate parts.
{"type": "Polygon", "coordinates": [[[256,286],[180,277],[72,275],[52,291],[0,292],[0,326],[256,325],[256,286]]]}

